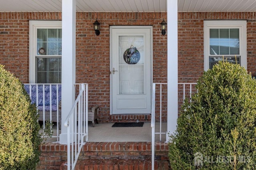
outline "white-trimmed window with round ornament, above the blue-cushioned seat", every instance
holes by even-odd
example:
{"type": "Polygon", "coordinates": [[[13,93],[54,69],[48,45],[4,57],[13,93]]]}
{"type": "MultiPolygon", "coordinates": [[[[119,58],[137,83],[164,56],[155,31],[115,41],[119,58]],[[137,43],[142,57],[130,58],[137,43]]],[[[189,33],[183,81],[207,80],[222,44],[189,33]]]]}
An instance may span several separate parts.
{"type": "Polygon", "coordinates": [[[61,21],[30,21],[30,83],[61,83],[61,21]]]}

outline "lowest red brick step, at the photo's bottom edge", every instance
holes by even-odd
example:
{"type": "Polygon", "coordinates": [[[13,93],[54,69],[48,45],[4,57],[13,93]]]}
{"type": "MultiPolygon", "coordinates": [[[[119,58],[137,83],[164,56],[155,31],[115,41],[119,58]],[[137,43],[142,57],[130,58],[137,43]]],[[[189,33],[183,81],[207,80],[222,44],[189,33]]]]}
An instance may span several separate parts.
{"type": "MultiPolygon", "coordinates": [[[[75,170],[151,170],[151,160],[86,159],[76,163],[75,170]]],[[[154,170],[169,170],[168,161],[156,160],[154,170]]],[[[60,170],[67,170],[62,164],[60,170]]]]}

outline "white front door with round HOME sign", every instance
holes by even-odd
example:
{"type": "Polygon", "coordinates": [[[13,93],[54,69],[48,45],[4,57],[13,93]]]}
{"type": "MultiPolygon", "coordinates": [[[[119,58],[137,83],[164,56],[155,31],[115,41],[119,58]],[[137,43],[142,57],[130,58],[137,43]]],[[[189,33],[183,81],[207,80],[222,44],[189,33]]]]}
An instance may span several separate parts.
{"type": "Polygon", "coordinates": [[[110,27],[112,114],[150,114],[152,27],[110,27]]]}

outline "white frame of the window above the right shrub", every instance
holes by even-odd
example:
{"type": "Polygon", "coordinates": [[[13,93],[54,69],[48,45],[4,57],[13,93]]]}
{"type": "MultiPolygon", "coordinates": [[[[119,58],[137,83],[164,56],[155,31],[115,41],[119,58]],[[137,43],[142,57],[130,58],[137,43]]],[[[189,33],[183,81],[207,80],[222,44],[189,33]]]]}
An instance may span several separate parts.
{"type": "Polygon", "coordinates": [[[210,29],[212,28],[238,28],[239,29],[239,50],[240,65],[247,69],[247,35],[246,20],[205,20],[204,21],[204,70],[209,69],[210,55],[210,29]]]}

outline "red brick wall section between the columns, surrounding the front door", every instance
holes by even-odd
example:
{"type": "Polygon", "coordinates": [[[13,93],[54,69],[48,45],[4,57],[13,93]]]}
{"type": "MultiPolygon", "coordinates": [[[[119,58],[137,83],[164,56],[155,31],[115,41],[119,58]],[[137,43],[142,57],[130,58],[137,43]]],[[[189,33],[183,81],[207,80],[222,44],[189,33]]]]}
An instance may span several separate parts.
{"type": "Polygon", "coordinates": [[[122,117],[110,116],[110,25],[152,25],[153,80],[166,82],[167,36],[162,36],[160,29],[163,18],[166,13],[77,13],[76,80],[89,83],[89,101],[100,107],[100,121],[119,121],[122,117]],[[100,22],[98,36],[92,29],[96,18],[100,22]]]}

